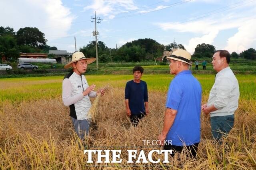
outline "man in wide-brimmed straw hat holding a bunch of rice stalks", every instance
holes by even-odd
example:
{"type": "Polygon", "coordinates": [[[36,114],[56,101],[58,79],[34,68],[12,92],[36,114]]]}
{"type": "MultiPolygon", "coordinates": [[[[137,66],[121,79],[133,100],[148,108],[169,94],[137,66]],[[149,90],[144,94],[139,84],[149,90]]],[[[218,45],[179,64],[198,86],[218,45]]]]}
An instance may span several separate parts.
{"type": "Polygon", "coordinates": [[[62,82],[62,100],[65,106],[70,107],[70,117],[76,134],[83,140],[89,133],[90,115],[88,111],[92,106],[90,98],[98,94],[104,95],[104,90],[94,92],[95,85],[89,86],[83,73],[86,72],[87,64],[93,63],[95,58],[86,58],[82,52],[75,52],[72,61],[64,68],[73,67],[72,71],[64,77],[62,82]]]}

